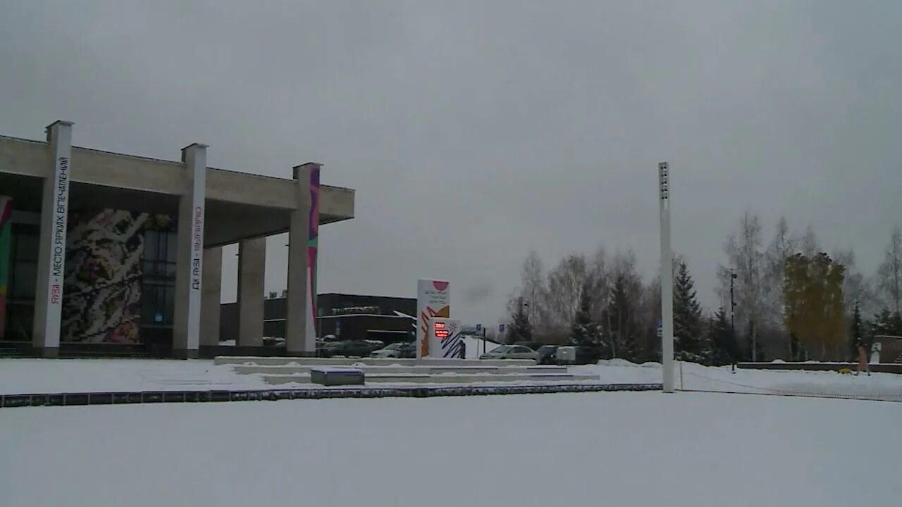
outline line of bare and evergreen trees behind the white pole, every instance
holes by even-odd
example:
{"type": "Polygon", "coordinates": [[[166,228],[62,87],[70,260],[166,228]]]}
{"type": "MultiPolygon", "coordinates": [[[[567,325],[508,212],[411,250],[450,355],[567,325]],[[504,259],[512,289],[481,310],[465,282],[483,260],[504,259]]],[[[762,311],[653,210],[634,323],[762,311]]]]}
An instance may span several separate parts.
{"type": "MultiPolygon", "coordinates": [[[[716,267],[716,309],[699,303],[686,259],[674,259],[676,358],[849,360],[856,339],[902,336],[902,230],[891,231],[877,272],[861,272],[850,250],[827,253],[809,226],[780,218],[765,240],[745,213],[716,267]]],[[[571,253],[546,269],[527,254],[511,291],[507,340],[594,346],[604,358],[659,361],[660,274],[646,280],[631,251],[571,253]]]]}

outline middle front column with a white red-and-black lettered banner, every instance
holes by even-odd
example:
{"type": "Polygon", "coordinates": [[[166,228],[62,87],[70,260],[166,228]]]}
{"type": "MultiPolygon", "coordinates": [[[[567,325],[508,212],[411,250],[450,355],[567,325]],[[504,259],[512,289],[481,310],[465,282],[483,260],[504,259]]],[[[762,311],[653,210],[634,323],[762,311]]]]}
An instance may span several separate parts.
{"type": "Polygon", "coordinates": [[[200,294],[203,280],[204,219],[207,197],[207,146],[191,144],[181,151],[188,170],[186,192],[179,198],[179,247],[175,272],[175,315],[172,354],[198,357],[200,294]]]}

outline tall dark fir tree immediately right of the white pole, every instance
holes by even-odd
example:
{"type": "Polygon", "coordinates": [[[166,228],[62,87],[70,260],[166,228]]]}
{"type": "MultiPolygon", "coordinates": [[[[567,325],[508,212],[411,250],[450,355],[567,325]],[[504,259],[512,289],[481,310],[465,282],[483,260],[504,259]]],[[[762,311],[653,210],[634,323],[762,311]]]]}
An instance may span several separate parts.
{"type": "Polygon", "coordinates": [[[695,298],[695,282],[686,263],[679,263],[674,281],[674,348],[676,359],[704,363],[702,306],[695,298]]]}

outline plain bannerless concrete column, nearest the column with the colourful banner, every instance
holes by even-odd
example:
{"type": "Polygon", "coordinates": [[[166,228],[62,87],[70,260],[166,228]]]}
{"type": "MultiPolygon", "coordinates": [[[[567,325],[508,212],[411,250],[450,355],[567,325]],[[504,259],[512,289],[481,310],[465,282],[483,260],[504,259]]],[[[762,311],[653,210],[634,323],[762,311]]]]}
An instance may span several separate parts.
{"type": "Polygon", "coordinates": [[[266,238],[238,244],[238,346],[263,346],[266,238]]]}

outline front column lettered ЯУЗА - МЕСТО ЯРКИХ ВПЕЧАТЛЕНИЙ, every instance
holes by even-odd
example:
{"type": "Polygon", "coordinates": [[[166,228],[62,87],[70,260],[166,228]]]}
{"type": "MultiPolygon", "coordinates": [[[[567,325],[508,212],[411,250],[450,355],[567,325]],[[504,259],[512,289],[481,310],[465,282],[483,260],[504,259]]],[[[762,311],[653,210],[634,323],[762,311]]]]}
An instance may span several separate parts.
{"type": "Polygon", "coordinates": [[[44,357],[60,354],[63,280],[66,277],[66,229],[69,220],[69,160],[72,122],[47,127],[51,167],[41,192],[41,239],[34,295],[32,345],[44,357]]]}

